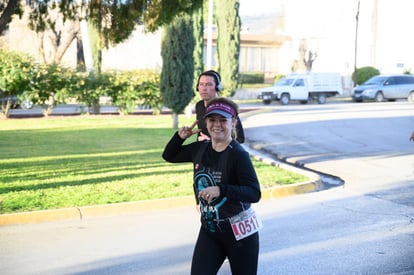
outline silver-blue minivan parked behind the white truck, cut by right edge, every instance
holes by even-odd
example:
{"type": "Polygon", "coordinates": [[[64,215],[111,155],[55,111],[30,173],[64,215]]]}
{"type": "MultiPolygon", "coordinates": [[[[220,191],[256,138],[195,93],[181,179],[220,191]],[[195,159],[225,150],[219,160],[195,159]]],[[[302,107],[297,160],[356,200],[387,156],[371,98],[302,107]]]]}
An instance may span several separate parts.
{"type": "Polygon", "coordinates": [[[377,75],[373,76],[352,91],[355,102],[374,100],[395,101],[407,99],[414,102],[414,75],[377,75]]]}

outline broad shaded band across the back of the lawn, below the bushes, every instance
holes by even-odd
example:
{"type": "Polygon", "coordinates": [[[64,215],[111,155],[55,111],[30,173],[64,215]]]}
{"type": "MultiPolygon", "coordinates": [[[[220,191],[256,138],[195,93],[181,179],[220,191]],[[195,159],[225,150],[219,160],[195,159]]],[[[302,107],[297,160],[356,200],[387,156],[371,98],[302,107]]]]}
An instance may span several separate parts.
{"type": "Polygon", "coordinates": [[[0,148],[7,159],[151,150],[163,148],[173,133],[166,128],[0,131],[0,148]]]}

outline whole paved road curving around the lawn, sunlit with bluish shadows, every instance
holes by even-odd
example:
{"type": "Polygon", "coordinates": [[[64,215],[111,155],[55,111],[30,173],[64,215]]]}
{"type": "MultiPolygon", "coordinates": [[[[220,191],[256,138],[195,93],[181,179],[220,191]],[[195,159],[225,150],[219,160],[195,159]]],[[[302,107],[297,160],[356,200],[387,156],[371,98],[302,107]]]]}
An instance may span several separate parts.
{"type": "MultiPolygon", "coordinates": [[[[414,105],[273,105],[243,124],[253,148],[345,181],[254,206],[265,226],[258,274],[414,274],[414,105]]],[[[197,215],[3,226],[0,273],[189,274],[197,215]]]]}

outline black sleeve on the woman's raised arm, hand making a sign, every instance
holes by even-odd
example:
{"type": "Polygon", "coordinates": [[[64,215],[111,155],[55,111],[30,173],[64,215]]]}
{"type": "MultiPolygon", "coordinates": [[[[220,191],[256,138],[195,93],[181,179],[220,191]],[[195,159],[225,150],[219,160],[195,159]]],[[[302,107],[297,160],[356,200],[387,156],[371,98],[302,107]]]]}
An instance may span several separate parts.
{"type": "Polygon", "coordinates": [[[178,135],[178,131],[172,136],[170,141],[164,148],[162,158],[168,162],[192,162],[192,152],[195,143],[183,145],[184,139],[181,139],[178,135]]]}

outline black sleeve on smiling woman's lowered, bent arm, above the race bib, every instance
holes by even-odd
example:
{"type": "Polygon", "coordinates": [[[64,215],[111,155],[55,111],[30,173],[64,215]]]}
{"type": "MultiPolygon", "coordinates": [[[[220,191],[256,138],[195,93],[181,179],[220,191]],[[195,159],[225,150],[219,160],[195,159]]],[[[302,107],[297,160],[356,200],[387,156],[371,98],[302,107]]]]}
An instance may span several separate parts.
{"type": "Polygon", "coordinates": [[[260,184],[249,153],[237,150],[231,162],[231,182],[219,184],[222,195],[235,201],[258,202],[261,198],[260,184]]]}

